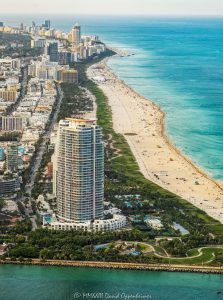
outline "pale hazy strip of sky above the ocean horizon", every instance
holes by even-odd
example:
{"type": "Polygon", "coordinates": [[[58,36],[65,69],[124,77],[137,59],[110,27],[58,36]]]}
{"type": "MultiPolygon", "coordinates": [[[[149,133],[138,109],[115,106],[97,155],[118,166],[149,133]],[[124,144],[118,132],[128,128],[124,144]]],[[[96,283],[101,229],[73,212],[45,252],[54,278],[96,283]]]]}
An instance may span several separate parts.
{"type": "Polygon", "coordinates": [[[223,0],[1,0],[4,13],[223,15],[223,0]]]}

